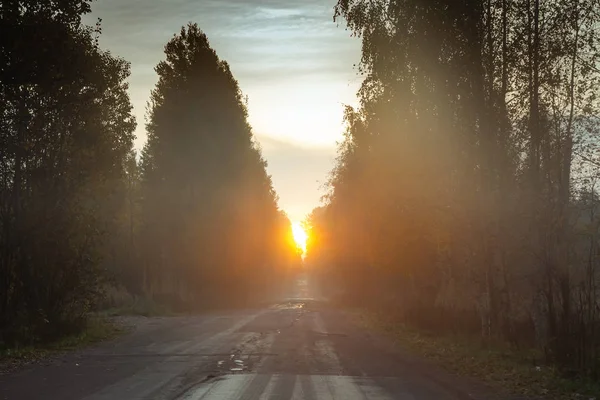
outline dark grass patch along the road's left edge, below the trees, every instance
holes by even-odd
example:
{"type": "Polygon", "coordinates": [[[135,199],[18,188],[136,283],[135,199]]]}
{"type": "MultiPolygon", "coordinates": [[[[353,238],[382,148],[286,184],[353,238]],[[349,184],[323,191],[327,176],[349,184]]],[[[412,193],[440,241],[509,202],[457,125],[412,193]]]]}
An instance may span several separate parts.
{"type": "Polygon", "coordinates": [[[77,350],[104,340],[113,339],[126,328],[104,317],[90,317],[86,328],[76,335],[65,336],[57,341],[8,348],[0,348],[0,371],[10,370],[19,365],[43,360],[65,351],[77,350]]]}

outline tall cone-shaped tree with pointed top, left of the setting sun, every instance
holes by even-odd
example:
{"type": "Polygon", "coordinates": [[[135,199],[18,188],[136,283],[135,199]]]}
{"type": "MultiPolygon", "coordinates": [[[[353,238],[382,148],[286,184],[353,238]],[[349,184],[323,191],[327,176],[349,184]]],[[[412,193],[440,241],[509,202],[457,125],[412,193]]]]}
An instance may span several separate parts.
{"type": "Polygon", "coordinates": [[[244,298],[277,267],[266,162],[238,83],[200,28],[182,27],[165,56],[141,166],[146,290],[174,302],[244,298]]]}

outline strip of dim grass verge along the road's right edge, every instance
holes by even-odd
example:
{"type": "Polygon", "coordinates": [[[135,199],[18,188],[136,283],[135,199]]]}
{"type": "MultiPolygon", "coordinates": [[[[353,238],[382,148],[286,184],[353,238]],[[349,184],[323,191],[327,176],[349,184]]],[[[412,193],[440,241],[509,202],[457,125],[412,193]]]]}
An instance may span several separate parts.
{"type": "Polygon", "coordinates": [[[415,354],[495,389],[552,400],[600,399],[600,382],[566,379],[553,366],[543,365],[536,351],[484,343],[479,338],[433,335],[364,309],[356,316],[363,326],[389,335],[415,354]]]}

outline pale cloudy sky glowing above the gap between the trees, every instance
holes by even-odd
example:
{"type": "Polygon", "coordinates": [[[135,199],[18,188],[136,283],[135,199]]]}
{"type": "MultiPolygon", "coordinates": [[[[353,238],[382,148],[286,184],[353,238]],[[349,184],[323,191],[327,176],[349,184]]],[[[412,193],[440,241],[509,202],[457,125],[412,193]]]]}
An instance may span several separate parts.
{"type": "Polygon", "coordinates": [[[249,119],[268,162],[279,205],[292,221],[319,205],[343,132],[343,106],[356,105],[360,40],[336,0],[98,0],[100,45],[131,62],[130,96],[146,141],[145,107],[154,66],[182,25],[196,22],[249,98],[249,119]]]}

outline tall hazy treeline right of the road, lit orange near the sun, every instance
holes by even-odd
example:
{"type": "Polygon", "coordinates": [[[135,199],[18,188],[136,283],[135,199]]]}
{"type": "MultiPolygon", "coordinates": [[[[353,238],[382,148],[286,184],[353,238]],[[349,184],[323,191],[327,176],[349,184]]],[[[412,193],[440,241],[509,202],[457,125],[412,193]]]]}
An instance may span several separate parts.
{"type": "Polygon", "coordinates": [[[600,4],[339,0],[362,38],[308,259],[348,301],[600,372],[600,4]]]}

